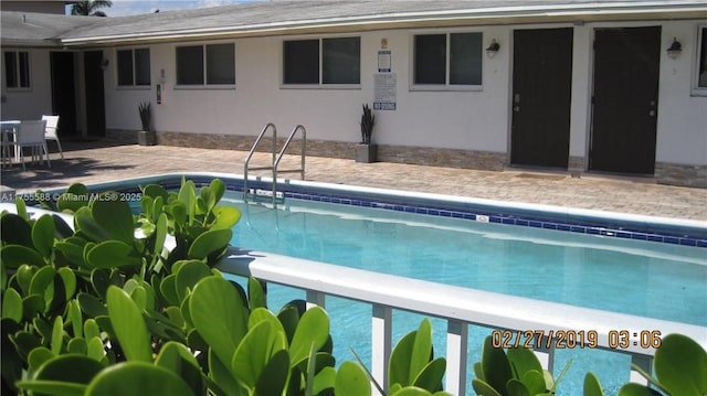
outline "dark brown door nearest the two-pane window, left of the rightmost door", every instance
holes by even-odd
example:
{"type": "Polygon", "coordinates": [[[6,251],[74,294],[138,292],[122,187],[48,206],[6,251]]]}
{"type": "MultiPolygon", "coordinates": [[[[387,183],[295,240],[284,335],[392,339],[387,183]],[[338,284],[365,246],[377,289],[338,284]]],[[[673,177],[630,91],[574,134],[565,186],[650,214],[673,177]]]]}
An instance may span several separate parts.
{"type": "Polygon", "coordinates": [[[510,162],[567,169],[572,29],[514,31],[510,162]]]}

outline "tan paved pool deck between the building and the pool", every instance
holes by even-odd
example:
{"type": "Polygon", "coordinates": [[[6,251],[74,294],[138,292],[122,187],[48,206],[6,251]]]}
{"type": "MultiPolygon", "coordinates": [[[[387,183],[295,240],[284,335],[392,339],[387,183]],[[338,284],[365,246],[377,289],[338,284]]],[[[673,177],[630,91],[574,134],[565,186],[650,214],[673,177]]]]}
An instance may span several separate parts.
{"type": "MultiPolygon", "coordinates": [[[[52,167],[14,164],[2,168],[0,183],[21,193],[65,188],[72,183],[102,183],[173,172],[243,174],[247,152],[172,146],[117,145],[106,141],[63,141],[62,160],[50,142],[52,167]]],[[[256,153],[255,165],[270,154],[256,153]]],[[[285,157],[281,170],[296,169],[298,157],[285,157]]],[[[268,175],[268,171],[250,172],[268,175]]],[[[282,178],[296,179],[297,173],[282,178]]],[[[659,185],[650,178],[546,172],[527,169],[477,171],[426,165],[307,157],[306,180],[620,212],[707,222],[707,189],[659,185]]]]}

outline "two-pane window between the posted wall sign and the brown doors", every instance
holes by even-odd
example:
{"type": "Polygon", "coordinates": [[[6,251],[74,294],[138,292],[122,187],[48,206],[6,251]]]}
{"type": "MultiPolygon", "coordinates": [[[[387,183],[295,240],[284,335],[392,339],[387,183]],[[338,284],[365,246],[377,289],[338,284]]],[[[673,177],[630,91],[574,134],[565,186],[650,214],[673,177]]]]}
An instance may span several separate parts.
{"type": "Polygon", "coordinates": [[[482,39],[482,33],[415,35],[413,84],[481,85],[482,39]]]}

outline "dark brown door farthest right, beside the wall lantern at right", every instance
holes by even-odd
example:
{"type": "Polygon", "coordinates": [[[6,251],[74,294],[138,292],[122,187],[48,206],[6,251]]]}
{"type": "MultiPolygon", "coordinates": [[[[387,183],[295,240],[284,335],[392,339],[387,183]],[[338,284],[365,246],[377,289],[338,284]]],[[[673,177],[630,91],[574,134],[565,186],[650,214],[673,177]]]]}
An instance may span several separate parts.
{"type": "Polygon", "coordinates": [[[590,170],[653,174],[661,28],[599,29],[590,170]]]}

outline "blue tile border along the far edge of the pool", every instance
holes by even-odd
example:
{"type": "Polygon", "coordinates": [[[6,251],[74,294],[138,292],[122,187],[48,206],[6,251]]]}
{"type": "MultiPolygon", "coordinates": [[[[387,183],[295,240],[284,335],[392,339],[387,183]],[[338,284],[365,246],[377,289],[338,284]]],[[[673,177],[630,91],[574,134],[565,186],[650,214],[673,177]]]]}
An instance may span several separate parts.
{"type": "MultiPolygon", "coordinates": [[[[194,182],[198,188],[209,185],[213,178],[189,175],[189,179],[194,182]]],[[[159,180],[166,189],[179,189],[181,185],[180,178],[171,178],[159,180]]],[[[251,189],[261,189],[270,191],[272,189],[271,183],[254,181],[249,182],[251,189]]],[[[115,189],[115,188],[114,188],[115,189]]],[[[242,183],[226,183],[226,189],[234,192],[243,192],[242,183]]],[[[124,191],[139,191],[135,185],[126,188],[124,191]]],[[[601,235],[604,237],[615,237],[624,239],[636,239],[645,242],[664,243],[682,246],[694,246],[699,248],[707,248],[707,231],[699,229],[684,229],[682,227],[673,226],[655,226],[652,224],[639,225],[619,224],[618,222],[610,222],[605,218],[594,217],[581,217],[569,215],[556,215],[541,212],[530,212],[526,210],[508,210],[514,213],[498,213],[484,207],[476,207],[467,204],[449,204],[441,206],[439,203],[430,200],[415,199],[411,196],[393,197],[391,195],[382,194],[368,194],[361,192],[352,192],[347,196],[342,196],[339,193],[334,193],[326,189],[318,188],[305,188],[295,184],[278,185],[278,192],[282,192],[287,199],[324,202],[324,203],[337,203],[342,205],[362,206],[381,208],[395,212],[416,213],[432,216],[454,217],[468,221],[486,221],[494,224],[514,225],[521,227],[534,227],[555,229],[569,233],[601,235]],[[306,191],[305,191],[306,190],[306,191]],[[460,207],[449,207],[460,206],[460,207]],[[690,234],[690,232],[694,233],[690,234]]]]}

